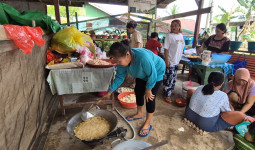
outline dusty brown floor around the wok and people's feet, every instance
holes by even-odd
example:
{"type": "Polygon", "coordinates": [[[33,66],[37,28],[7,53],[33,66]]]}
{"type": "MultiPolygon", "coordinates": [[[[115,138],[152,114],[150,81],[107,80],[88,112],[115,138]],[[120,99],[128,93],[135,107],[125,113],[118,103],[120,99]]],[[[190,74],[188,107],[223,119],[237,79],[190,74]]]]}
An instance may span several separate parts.
{"type": "MultiPolygon", "coordinates": [[[[184,75],[178,71],[178,79],[175,88],[175,95],[172,98],[181,97],[182,82],[187,79],[187,72],[184,75]]],[[[141,138],[136,133],[136,140],[143,140],[145,142],[155,144],[162,140],[169,140],[167,145],[159,148],[159,150],[224,150],[231,147],[234,142],[232,139],[232,132],[220,131],[217,133],[209,133],[205,136],[199,135],[195,130],[189,128],[182,123],[184,117],[184,107],[178,107],[176,104],[168,104],[163,100],[162,88],[160,89],[156,99],[156,112],[152,121],[152,130],[150,135],[145,138],[141,138]],[[183,127],[184,132],[180,132],[178,129],[183,127]]],[[[132,115],[136,112],[136,109],[122,108],[119,102],[116,100],[117,109],[124,115],[132,115]]],[[[66,132],[66,124],[68,120],[80,112],[81,109],[69,109],[66,111],[66,116],[62,116],[60,110],[57,112],[55,119],[49,130],[49,134],[44,146],[44,150],[90,150],[92,148],[86,146],[79,140],[74,140],[69,137],[66,132]]],[[[118,118],[117,127],[124,127],[128,129],[126,137],[132,137],[132,131],[125,121],[113,111],[118,118]]],[[[144,111],[145,112],[145,111],[144,111]]],[[[132,121],[136,132],[143,125],[144,120],[132,121]]],[[[111,149],[111,142],[116,138],[107,139],[103,145],[95,147],[93,150],[108,150],[111,149]]]]}

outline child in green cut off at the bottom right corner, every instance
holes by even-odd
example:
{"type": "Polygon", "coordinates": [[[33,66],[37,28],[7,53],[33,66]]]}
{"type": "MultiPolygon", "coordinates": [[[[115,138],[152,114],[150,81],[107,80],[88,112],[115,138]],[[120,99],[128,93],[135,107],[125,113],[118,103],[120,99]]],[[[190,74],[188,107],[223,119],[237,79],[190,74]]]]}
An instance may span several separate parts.
{"type": "Polygon", "coordinates": [[[248,132],[244,137],[241,134],[234,135],[235,147],[238,150],[254,150],[255,149],[255,122],[248,126],[248,132]]]}

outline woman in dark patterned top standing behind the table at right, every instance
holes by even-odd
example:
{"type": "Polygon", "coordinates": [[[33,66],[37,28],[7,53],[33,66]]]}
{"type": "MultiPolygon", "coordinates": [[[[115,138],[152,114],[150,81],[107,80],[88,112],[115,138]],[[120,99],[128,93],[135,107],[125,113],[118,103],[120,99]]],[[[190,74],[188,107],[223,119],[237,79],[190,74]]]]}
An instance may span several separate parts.
{"type": "Polygon", "coordinates": [[[210,36],[198,50],[198,53],[202,53],[205,47],[207,50],[212,51],[212,53],[222,53],[229,51],[230,40],[225,36],[227,31],[226,25],[220,23],[216,26],[216,34],[210,36]]]}

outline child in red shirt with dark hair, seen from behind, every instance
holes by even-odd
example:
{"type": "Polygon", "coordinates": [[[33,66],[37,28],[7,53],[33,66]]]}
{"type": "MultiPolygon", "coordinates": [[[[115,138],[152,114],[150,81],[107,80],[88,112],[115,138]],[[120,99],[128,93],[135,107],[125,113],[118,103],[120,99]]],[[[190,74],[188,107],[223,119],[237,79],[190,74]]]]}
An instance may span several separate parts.
{"type": "Polygon", "coordinates": [[[145,44],[145,48],[158,55],[161,51],[161,43],[158,42],[158,33],[152,32],[151,39],[145,44]]]}

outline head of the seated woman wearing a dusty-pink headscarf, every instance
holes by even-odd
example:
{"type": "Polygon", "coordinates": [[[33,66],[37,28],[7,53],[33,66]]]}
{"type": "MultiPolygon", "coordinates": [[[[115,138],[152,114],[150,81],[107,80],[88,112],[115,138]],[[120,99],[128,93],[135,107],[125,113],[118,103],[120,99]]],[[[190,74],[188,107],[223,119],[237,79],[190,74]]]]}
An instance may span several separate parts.
{"type": "Polygon", "coordinates": [[[246,68],[239,68],[236,70],[234,78],[235,84],[243,86],[249,81],[250,72],[246,68]]]}

